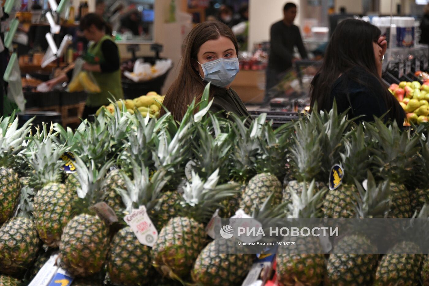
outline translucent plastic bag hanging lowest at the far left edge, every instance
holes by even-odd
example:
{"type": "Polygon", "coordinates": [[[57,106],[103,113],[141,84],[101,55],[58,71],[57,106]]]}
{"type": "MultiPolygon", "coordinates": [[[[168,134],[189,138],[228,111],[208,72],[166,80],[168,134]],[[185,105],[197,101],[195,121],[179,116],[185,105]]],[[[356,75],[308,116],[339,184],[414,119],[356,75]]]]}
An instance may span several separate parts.
{"type": "Polygon", "coordinates": [[[6,67],[3,79],[8,82],[7,98],[18,105],[21,111],[25,110],[24,93],[22,92],[21,70],[19,70],[18,56],[13,53],[6,67]]]}

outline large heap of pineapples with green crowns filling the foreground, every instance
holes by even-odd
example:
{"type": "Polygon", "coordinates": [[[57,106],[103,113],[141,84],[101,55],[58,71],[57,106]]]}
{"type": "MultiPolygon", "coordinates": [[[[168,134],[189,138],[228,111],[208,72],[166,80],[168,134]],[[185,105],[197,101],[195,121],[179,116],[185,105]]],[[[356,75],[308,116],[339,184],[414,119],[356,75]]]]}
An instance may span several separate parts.
{"type": "MultiPolygon", "coordinates": [[[[27,285],[52,253],[72,285],[241,285],[256,256],[225,254],[235,241],[208,237],[217,209],[223,218],[237,210],[254,218],[427,217],[423,128],[412,135],[379,120],[355,125],[335,107],[276,130],[263,114],[247,128],[237,116],[211,114],[210,104],[205,93],[181,122],[114,106],[74,132],[43,125],[30,136],[30,122],[18,128],[14,115],[2,119],[0,285],[27,285]],[[334,164],[345,176],[328,191],[334,164]],[[153,247],[124,221],[141,206],[158,231],[153,247]]],[[[375,247],[360,234],[339,245],[350,243],[375,247]]],[[[429,285],[429,259],[419,254],[276,261],[278,285],[429,285]]]]}

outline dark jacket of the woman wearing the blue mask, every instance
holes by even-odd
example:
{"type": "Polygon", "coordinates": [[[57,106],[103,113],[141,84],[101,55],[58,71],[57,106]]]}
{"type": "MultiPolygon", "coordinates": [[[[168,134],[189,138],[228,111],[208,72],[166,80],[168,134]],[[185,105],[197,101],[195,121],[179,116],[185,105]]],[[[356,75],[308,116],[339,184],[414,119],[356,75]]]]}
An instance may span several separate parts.
{"type": "Polygon", "coordinates": [[[213,88],[213,104],[210,106],[210,111],[217,113],[221,111],[222,117],[228,119],[228,113],[235,113],[239,117],[247,117],[245,125],[250,126],[252,117],[244,106],[243,101],[238,94],[232,89],[213,88]]]}

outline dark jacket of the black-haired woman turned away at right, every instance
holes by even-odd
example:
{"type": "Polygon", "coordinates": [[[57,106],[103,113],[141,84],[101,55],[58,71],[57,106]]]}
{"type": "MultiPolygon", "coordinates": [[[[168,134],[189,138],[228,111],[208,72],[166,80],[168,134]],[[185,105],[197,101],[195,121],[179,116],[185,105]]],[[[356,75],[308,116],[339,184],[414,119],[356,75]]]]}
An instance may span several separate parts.
{"type": "MultiPolygon", "coordinates": [[[[382,97],[385,92],[385,88],[378,79],[371,73],[360,67],[355,67],[341,75],[332,85],[331,97],[330,97],[330,108],[323,108],[330,110],[334,102],[334,98],[337,103],[338,112],[343,113],[347,108],[351,106],[349,110],[349,118],[362,116],[356,120],[356,122],[366,121],[373,122],[374,116],[381,117],[384,113],[390,109],[382,97]],[[358,77],[358,81],[350,79],[349,75],[352,74],[358,77]]],[[[392,95],[393,97],[393,95],[392,95]]],[[[398,125],[402,127],[404,124],[404,113],[399,102],[393,100],[394,110],[399,109],[400,116],[398,118],[385,117],[386,120],[396,120],[398,125]]],[[[324,106],[325,107],[325,106],[324,106]]]]}

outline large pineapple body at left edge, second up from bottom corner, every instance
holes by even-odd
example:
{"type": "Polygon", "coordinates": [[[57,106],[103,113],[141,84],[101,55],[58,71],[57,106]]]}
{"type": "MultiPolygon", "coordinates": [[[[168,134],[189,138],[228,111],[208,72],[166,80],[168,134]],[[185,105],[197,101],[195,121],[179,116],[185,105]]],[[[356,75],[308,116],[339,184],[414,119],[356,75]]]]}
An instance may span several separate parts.
{"type": "Polygon", "coordinates": [[[0,228],[0,272],[20,274],[30,267],[39,246],[39,235],[30,219],[10,219],[0,228]]]}

